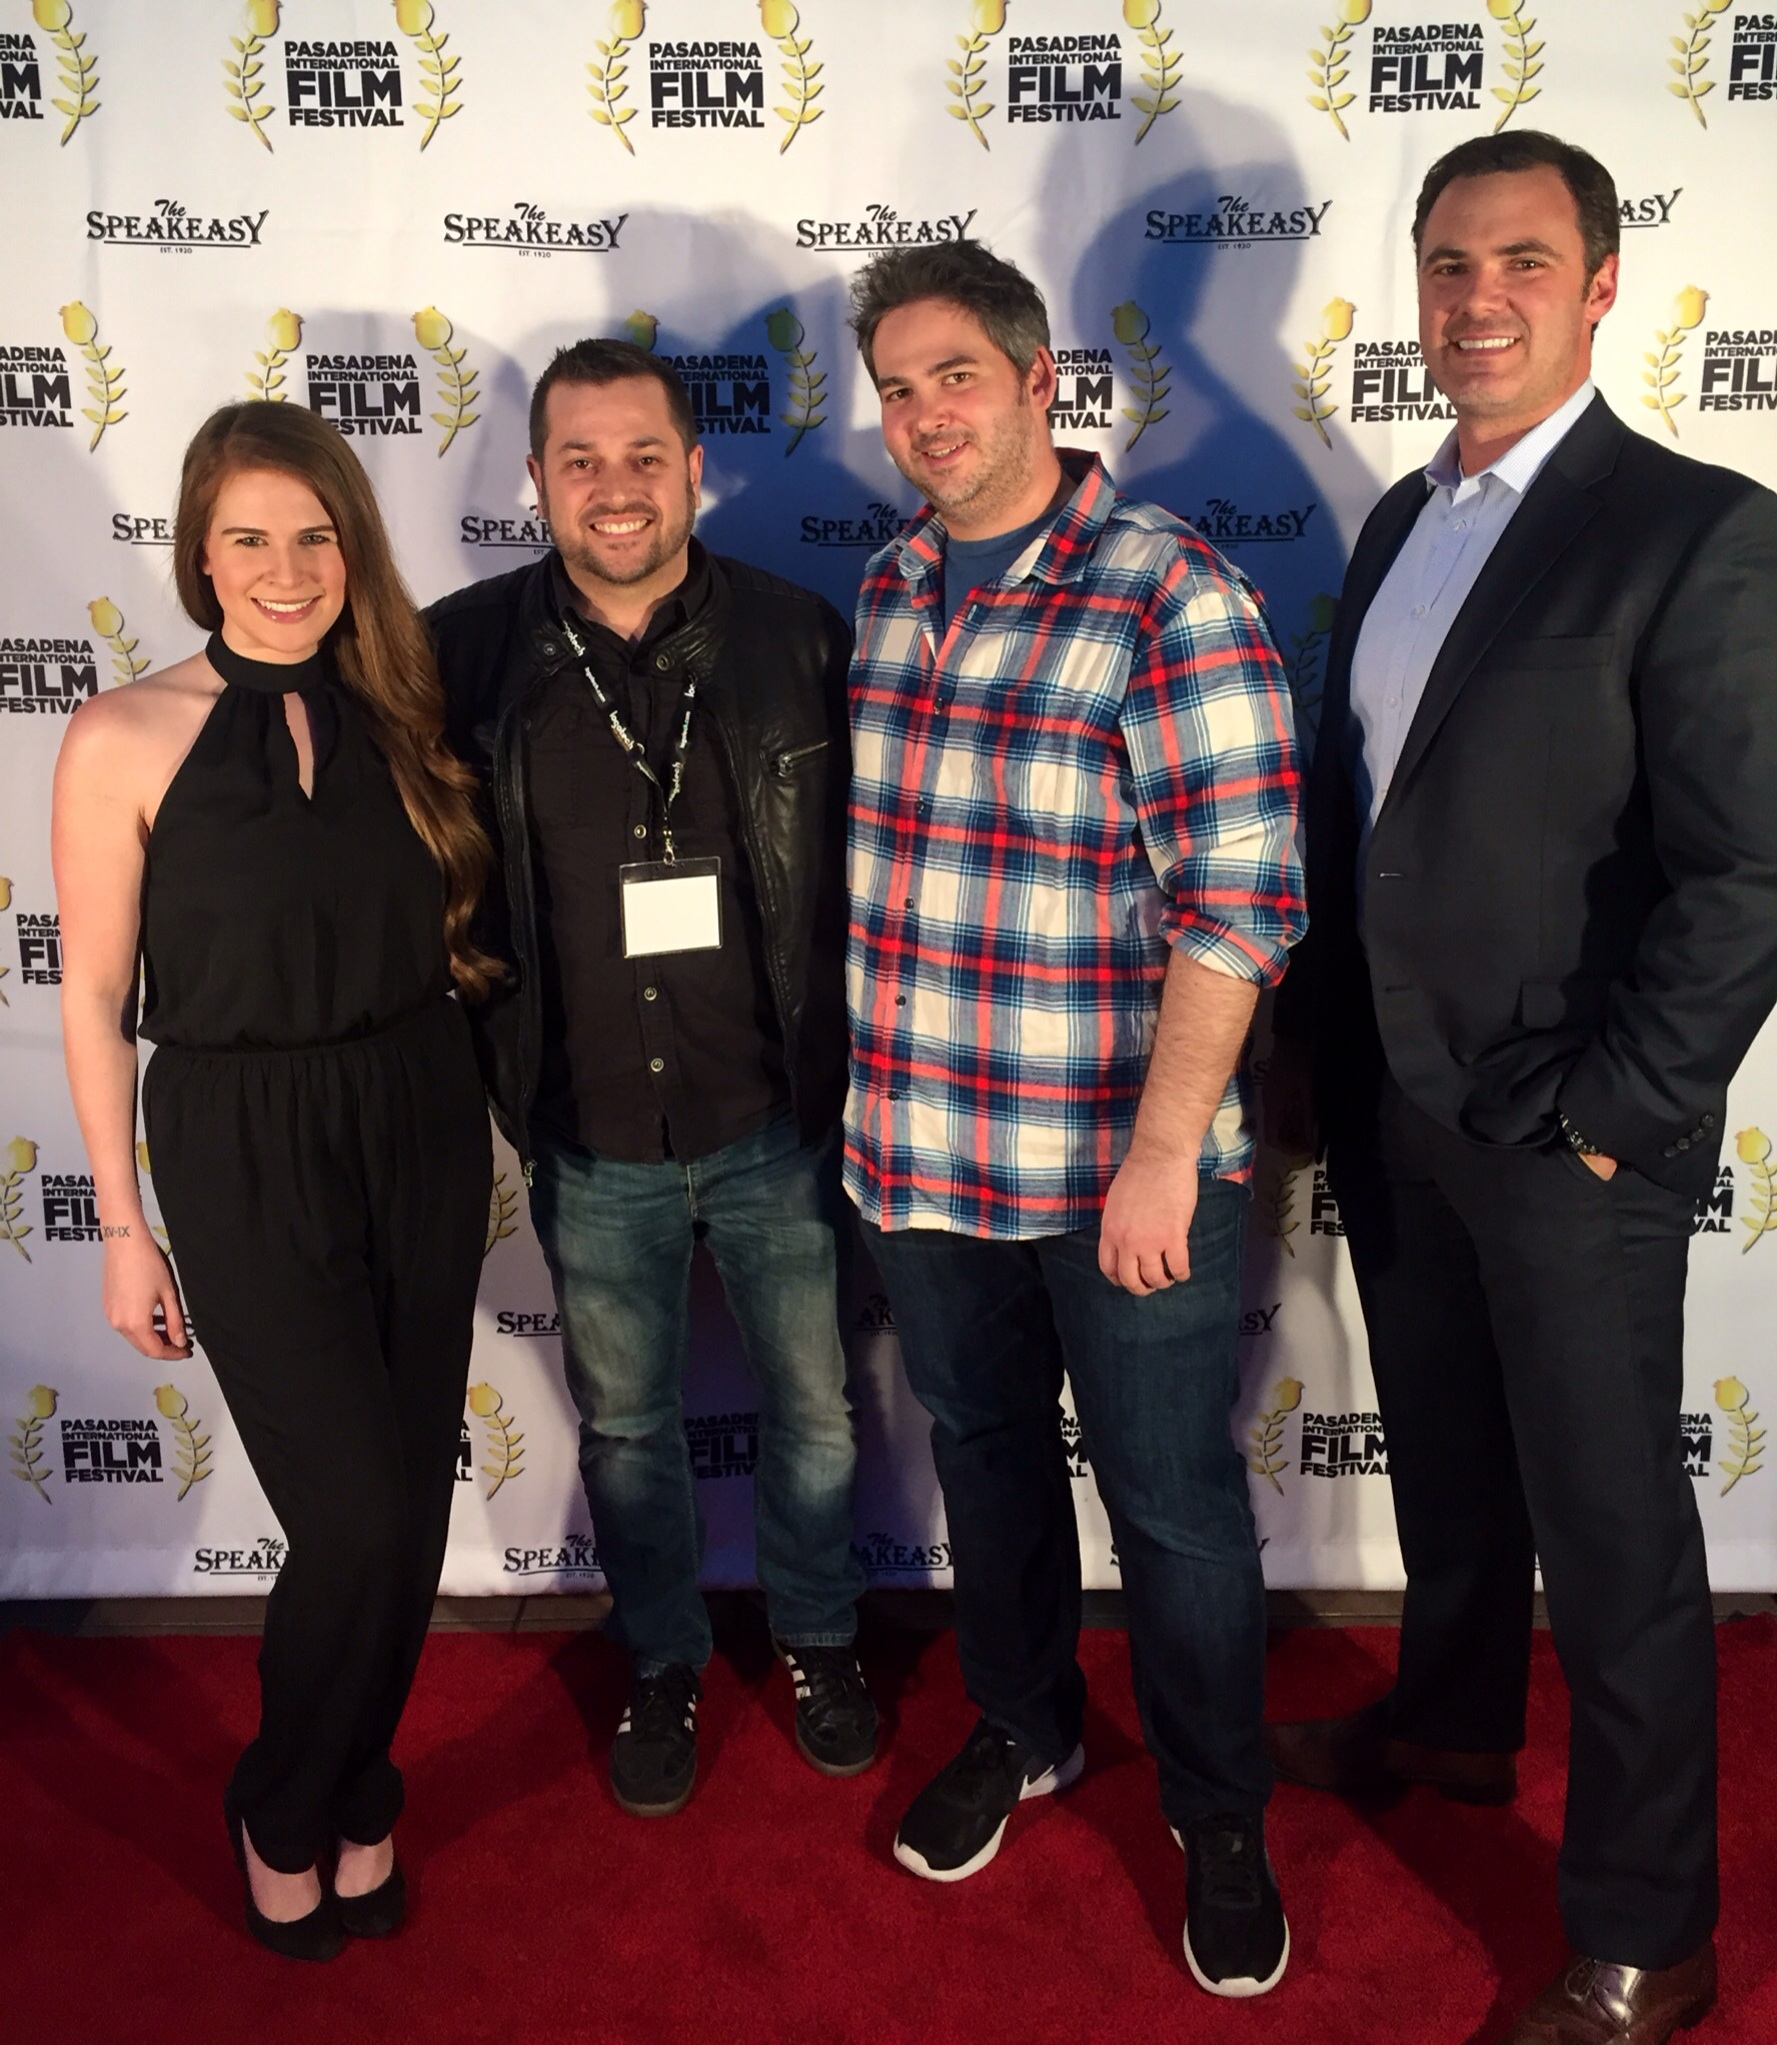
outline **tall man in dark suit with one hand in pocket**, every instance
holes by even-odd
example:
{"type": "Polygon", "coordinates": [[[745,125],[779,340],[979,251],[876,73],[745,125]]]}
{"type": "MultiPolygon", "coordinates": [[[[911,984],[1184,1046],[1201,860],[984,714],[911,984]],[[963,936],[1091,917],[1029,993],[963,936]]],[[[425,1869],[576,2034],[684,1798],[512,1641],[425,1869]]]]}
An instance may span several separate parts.
{"type": "Polygon", "coordinates": [[[1409,1581],[1393,1693],[1272,1757],[1507,1802],[1540,1558],[1575,1959],[1511,2039],[1652,2045],[1716,1994],[1683,1294],[1777,1000],[1777,497],[1593,393],[1617,200],[1589,155],[1462,143],[1413,241],[1456,431],[1346,577],[1272,1121],[1309,1133],[1313,1045],[1409,1581]]]}

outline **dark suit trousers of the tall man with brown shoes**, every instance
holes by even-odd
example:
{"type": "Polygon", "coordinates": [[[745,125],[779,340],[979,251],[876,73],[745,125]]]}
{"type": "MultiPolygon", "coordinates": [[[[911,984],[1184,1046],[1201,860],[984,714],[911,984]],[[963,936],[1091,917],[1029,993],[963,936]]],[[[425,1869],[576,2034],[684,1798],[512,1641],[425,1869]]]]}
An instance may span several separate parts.
{"type": "Polygon", "coordinates": [[[1716,1924],[1716,1636],[1683,1468],[1693,1202],[1470,1143],[1391,1080],[1327,1168],[1407,1564],[1391,1732],[1523,1744],[1532,1573],[1573,1697],[1560,1910],[1671,1967],[1716,1924]]]}

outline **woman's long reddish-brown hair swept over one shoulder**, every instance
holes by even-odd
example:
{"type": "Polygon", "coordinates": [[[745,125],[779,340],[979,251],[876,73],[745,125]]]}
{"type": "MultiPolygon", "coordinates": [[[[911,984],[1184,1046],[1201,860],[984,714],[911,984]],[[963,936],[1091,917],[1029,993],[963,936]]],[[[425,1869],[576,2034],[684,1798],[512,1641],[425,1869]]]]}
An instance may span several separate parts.
{"type": "Polygon", "coordinates": [[[331,425],[301,405],[260,399],[223,405],[196,429],[180,470],[174,515],[174,583],[194,624],[223,622],[204,575],[204,536],[217,493],[243,468],[276,468],[325,505],[346,562],[346,609],[331,648],[339,679],[364,706],[397,793],[444,875],[444,947],[450,973],[481,998],[503,967],[470,937],[493,853],[474,814],[474,775],[444,742],[444,687],[425,626],[395,566],[389,530],[364,466],[331,425]]]}

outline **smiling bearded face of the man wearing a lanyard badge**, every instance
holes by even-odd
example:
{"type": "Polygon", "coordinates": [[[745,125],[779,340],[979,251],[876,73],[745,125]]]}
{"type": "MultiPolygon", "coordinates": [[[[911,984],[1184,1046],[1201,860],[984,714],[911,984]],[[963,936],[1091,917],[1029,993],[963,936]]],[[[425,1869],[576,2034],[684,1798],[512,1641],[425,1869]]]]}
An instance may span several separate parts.
{"type": "Polygon", "coordinates": [[[703,450],[685,448],[652,376],[558,382],[544,413],[542,460],[526,464],[575,585],[632,599],[685,579],[703,450]]]}

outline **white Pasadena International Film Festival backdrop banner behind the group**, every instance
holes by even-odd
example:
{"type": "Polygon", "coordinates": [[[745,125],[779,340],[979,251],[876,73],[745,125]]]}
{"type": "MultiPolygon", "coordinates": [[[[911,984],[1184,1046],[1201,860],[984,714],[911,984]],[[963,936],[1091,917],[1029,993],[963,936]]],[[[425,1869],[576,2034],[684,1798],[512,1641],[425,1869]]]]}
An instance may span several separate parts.
{"type": "MultiPolygon", "coordinates": [[[[1309,708],[1346,550],[1446,431],[1413,339],[1419,176],[1542,125],[1622,190],[1601,389],[1777,483],[1777,14],[1732,0],[0,0],[0,123],[4,1595],[254,1591],[282,1552],[202,1358],[157,1372],[100,1317],[57,1039],[55,748],[82,699],[198,644],[168,517],[219,401],[350,434],[425,601],[538,556],[530,382],[558,344],[624,333],[691,384],[703,538],[849,609],[912,505],[847,276],[977,237],[1047,292],[1059,438],[1256,577],[1309,708]]],[[[1771,1037],[1728,1127],[1685,1438],[1718,1587],[1769,1589],[1771,1037]]],[[[548,1280],[499,1166],[444,1581],[597,1585],[548,1280]]],[[[1270,1581],[1395,1585],[1337,1209],[1264,1157],[1254,1223],[1235,1427],[1270,1581]]],[[[757,1401],[697,1284],[708,1579],[746,1583],[757,1401]]],[[[867,1274],[845,1311],[859,1550],[875,1581],[945,1583],[926,1423],[867,1274]]],[[[1088,1581],[1114,1583],[1072,1421],[1069,1450],[1088,1581]]]]}

